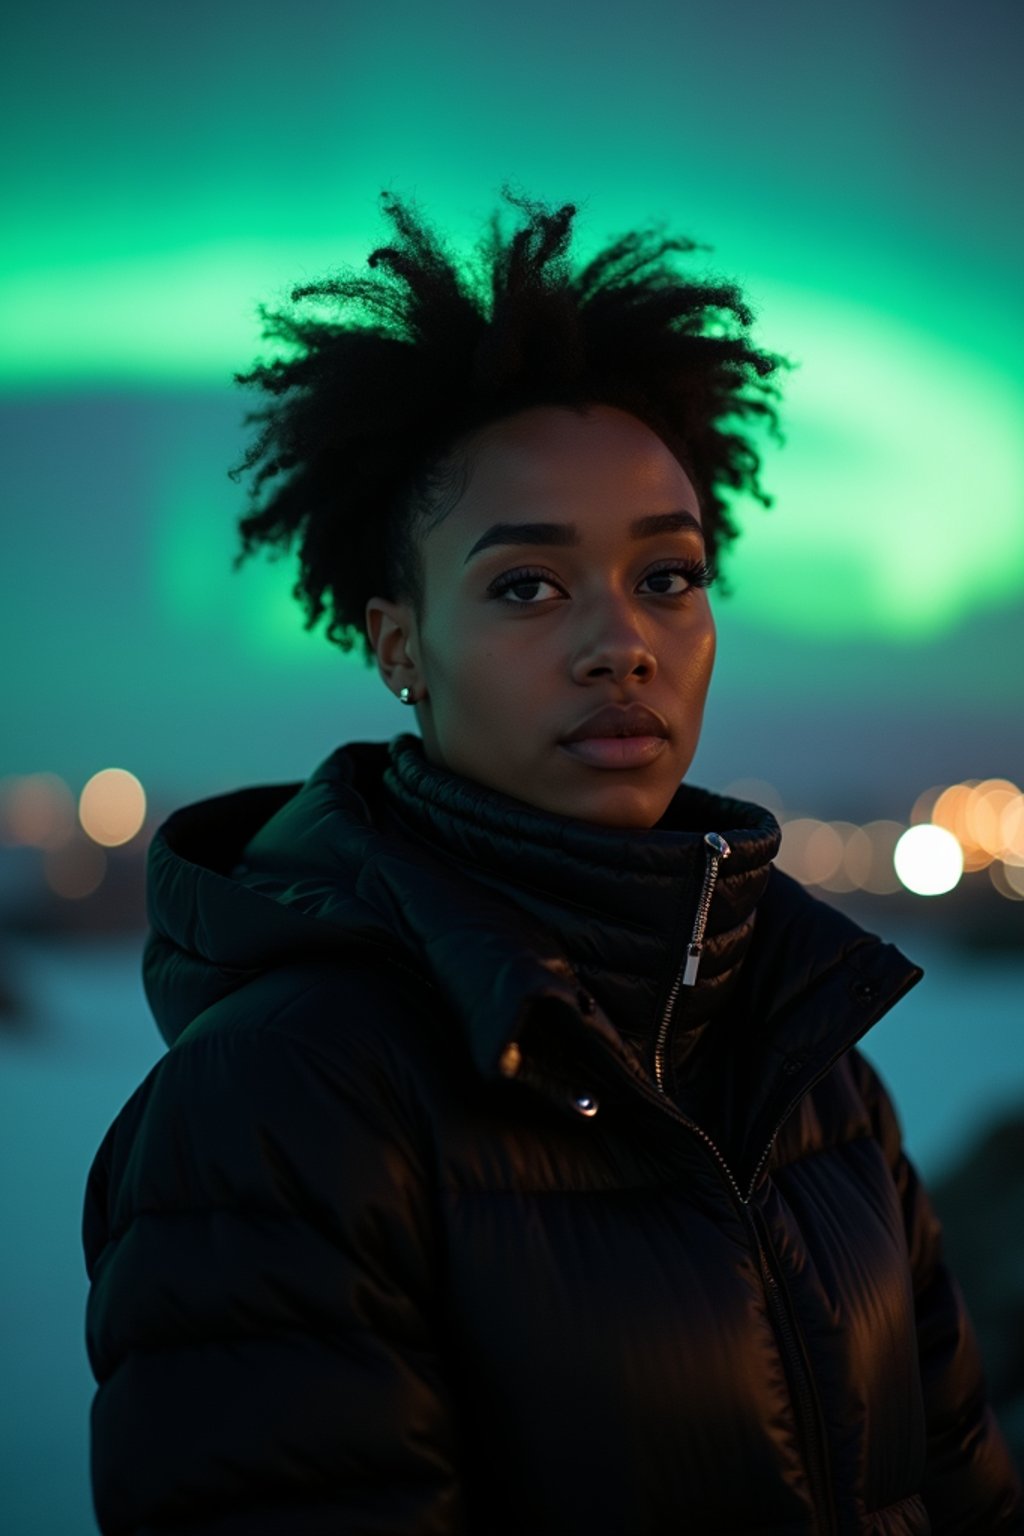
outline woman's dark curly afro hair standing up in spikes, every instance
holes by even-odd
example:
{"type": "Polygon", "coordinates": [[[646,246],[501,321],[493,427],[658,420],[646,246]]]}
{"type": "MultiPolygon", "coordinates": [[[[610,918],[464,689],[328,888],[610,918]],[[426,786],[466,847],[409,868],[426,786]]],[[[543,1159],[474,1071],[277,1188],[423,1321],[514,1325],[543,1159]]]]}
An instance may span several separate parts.
{"type": "Polygon", "coordinates": [[[694,482],[711,564],[737,536],[728,492],[771,505],[751,427],[780,438],[774,378],[789,364],[751,344],[735,284],[666,260],[706,247],[634,230],[573,275],[576,207],[502,197],[520,227],[505,237],[493,214],[461,270],[415,204],[382,192],[396,238],[370,253],[373,275],[292,289],[293,306],[316,300],[330,318],[259,304],[261,335],[292,355],[233,375],[270,396],[246,415],[263,427],[229,470],[255,472],[235,568],[298,539],[306,628],[327,613],[327,637],[368,664],[367,601],[422,613],[421,539],[465,488],[467,439],[517,410],[603,402],[639,416],[694,482]]]}

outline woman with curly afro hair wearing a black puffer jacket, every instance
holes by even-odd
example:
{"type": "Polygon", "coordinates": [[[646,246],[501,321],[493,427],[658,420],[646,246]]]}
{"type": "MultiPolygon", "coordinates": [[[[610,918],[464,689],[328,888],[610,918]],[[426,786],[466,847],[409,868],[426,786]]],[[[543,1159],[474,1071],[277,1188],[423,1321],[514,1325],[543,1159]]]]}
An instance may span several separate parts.
{"type": "MultiPolygon", "coordinates": [[[[857,1041],[921,975],[682,782],[781,359],[688,241],[275,315],[243,554],[418,734],[172,816],[170,1044],[92,1169],[106,1533],[1009,1533],[941,1232],[857,1041]],[[267,493],[269,487],[269,493],[267,493]]],[[[266,318],[266,316],[264,316],[266,318]]],[[[241,556],[239,556],[241,558],[241,556]]]]}

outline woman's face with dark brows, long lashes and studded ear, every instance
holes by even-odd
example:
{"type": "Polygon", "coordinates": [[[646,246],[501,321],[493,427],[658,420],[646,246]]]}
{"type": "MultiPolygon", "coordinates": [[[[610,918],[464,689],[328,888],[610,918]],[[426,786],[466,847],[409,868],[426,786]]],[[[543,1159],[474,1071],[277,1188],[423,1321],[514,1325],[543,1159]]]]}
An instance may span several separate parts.
{"type": "Polygon", "coordinates": [[[422,544],[421,621],[367,605],[381,673],[418,700],[431,762],[545,811],[652,826],[697,750],[715,653],[686,472],[613,406],[493,422],[470,465],[422,544]]]}

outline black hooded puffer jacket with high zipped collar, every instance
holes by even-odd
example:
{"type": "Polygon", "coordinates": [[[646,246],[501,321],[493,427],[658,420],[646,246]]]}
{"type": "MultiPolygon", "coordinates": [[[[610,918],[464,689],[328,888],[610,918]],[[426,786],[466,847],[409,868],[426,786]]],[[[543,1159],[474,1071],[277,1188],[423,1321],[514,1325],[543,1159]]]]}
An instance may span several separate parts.
{"type": "Polygon", "coordinates": [[[1024,1530],[855,1049],[920,971],[777,846],[688,786],[640,833],[534,811],[411,736],[164,823],[170,1049],[86,1195],[104,1533],[1024,1530]]]}

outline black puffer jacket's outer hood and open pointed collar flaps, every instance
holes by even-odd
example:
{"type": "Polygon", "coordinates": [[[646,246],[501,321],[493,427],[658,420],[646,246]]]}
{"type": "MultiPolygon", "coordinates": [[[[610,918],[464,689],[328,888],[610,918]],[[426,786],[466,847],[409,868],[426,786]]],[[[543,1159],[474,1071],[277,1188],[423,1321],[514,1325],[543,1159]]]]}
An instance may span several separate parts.
{"type": "MultiPolygon", "coordinates": [[[[441,995],[482,1077],[507,1077],[516,1043],[519,1075],[559,1103],[599,1081],[654,1095],[551,926],[387,828],[391,760],[385,743],[355,742],[304,785],[220,796],[158,829],[144,983],[164,1037],[261,972],[378,949],[441,995]]],[[[580,837],[594,831],[580,826],[580,837]]],[[[771,869],[731,1014],[743,1031],[754,1141],[920,975],[892,945],[771,869]]]]}

